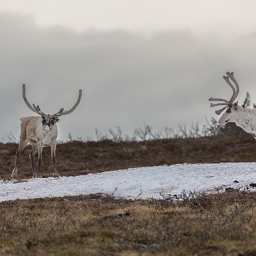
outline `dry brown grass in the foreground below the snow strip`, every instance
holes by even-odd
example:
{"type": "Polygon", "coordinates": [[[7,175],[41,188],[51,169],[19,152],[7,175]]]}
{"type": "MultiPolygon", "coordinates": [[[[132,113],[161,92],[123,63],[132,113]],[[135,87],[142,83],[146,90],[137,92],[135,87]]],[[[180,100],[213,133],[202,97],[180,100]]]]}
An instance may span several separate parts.
{"type": "Polygon", "coordinates": [[[94,195],[3,202],[0,255],[256,252],[256,193],[232,191],[191,200],[132,202],[94,195]]]}

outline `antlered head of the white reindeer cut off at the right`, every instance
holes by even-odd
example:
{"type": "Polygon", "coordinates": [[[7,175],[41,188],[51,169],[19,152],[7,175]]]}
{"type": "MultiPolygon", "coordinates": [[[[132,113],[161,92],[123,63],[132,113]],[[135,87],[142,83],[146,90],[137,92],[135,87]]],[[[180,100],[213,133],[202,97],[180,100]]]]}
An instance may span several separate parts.
{"type": "Polygon", "coordinates": [[[223,108],[215,111],[217,115],[220,115],[223,112],[223,110],[227,109],[225,113],[223,113],[223,115],[218,120],[218,123],[220,125],[223,125],[227,122],[235,122],[237,119],[237,114],[240,113],[241,110],[243,109],[243,107],[238,105],[238,102],[234,103],[234,100],[236,99],[239,93],[239,85],[234,77],[234,72],[226,72],[226,74],[227,76],[223,76],[223,78],[225,79],[226,83],[231,87],[233,91],[232,97],[230,98],[230,100],[217,99],[212,97],[209,99],[209,101],[222,101],[221,103],[216,103],[216,104],[211,103],[211,108],[224,105],[223,108]],[[236,88],[230,82],[229,79],[231,79],[232,82],[236,85],[236,88]]]}

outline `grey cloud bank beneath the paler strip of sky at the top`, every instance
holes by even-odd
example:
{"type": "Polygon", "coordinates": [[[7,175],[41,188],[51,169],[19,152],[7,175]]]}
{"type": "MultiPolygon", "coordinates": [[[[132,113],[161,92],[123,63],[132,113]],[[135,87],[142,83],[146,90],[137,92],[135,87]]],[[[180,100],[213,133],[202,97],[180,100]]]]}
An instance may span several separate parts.
{"type": "Polygon", "coordinates": [[[19,118],[33,115],[22,102],[22,83],[28,99],[49,113],[70,108],[83,89],[81,105],[58,125],[63,140],[68,133],[92,136],[95,128],[132,132],[143,122],[155,129],[202,123],[214,116],[209,97],[230,97],[221,78],[227,70],[241,84],[239,100],[249,91],[256,101],[255,33],[77,33],[11,13],[0,13],[0,33],[0,138],[18,135],[19,118]]]}

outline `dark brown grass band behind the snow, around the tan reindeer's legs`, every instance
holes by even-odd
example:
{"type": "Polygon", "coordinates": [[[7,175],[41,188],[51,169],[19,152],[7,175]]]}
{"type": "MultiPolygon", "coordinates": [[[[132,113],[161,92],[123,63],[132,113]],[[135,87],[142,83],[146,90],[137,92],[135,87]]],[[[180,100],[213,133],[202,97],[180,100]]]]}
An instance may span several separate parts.
{"type": "MultiPolygon", "coordinates": [[[[8,178],[12,173],[16,144],[0,143],[0,176],[8,178]]],[[[20,156],[19,176],[32,176],[29,163],[31,147],[20,156]]],[[[75,176],[92,172],[104,172],[140,166],[177,163],[220,163],[256,161],[256,143],[250,134],[154,140],[141,142],[73,141],[57,146],[58,172],[63,176],[75,176]]],[[[51,154],[44,148],[42,176],[52,175],[51,154]]]]}

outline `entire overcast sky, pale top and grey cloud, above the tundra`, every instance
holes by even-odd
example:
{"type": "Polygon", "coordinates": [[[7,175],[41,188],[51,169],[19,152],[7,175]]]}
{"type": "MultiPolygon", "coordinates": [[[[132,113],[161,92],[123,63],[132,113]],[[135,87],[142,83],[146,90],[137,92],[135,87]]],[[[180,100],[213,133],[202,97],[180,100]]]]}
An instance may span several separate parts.
{"type": "Polygon", "coordinates": [[[0,0],[0,138],[19,135],[27,97],[61,117],[59,139],[120,126],[131,133],[215,116],[209,97],[256,102],[255,1],[0,0]]]}

